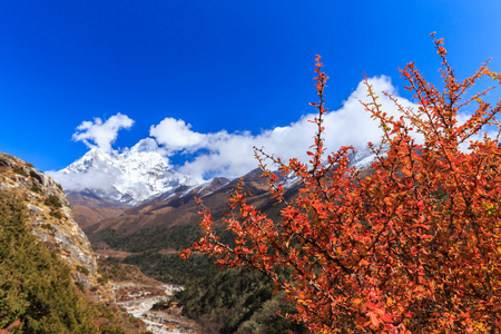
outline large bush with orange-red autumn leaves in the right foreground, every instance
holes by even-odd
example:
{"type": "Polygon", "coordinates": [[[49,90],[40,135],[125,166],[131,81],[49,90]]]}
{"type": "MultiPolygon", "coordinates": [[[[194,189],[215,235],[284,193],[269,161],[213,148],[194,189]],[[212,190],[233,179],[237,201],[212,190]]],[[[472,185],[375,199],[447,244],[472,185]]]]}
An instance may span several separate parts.
{"type": "Polygon", "coordinates": [[[284,163],[256,150],[283,206],[282,219],[269,219],[237,189],[225,219],[235,246],[220,242],[203,207],[205,236],[183,255],[202,250],[220,266],[262,272],[295,305],[292,317],[313,333],[498,333],[501,149],[495,116],[501,104],[484,100],[489,90],[469,90],[482,77],[501,85],[501,76],[484,63],[459,80],[442,40],[434,42],[443,91],[413,63],[401,70],[419,108],[391,97],[401,114],[391,117],[367,82],[372,102],[364,106],[384,134],[382,145],[369,144],[376,157],[369,176],[350,167],[353,148],[325,154],[327,77],[318,57],[311,160],[284,163]],[[471,116],[460,124],[460,112],[471,116]],[[478,136],[487,127],[494,136],[478,136]],[[301,178],[297,198],[284,198],[266,159],[278,165],[282,176],[301,178]],[[277,274],[284,267],[293,273],[291,279],[277,274]]]}

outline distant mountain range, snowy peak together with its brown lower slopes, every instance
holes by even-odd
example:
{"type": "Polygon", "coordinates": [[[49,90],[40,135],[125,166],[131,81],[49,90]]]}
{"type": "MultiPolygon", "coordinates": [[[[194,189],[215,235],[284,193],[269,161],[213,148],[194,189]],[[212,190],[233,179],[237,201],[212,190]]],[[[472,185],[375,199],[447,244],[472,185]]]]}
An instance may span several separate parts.
{"type": "MultiPolygon", "coordinates": [[[[350,159],[352,166],[365,168],[374,155],[369,149],[361,149],[351,154],[350,159]]],[[[223,217],[227,212],[227,193],[239,181],[239,178],[232,181],[224,177],[196,181],[177,173],[151,138],[140,140],[120,154],[92,148],[51,176],[62,185],[80,227],[94,244],[99,243],[105,248],[110,244],[118,246],[122,238],[143,238],[143,234],[155,228],[163,232],[148,238],[166,240],[169,239],[164,236],[166,229],[174,228],[168,234],[177,235],[179,228],[197,227],[199,217],[195,197],[203,198],[213,213],[223,217]]],[[[252,202],[262,207],[269,206],[268,188],[261,178],[261,170],[249,171],[243,178],[254,195],[252,202]]],[[[299,179],[291,175],[282,181],[287,194],[295,196],[299,179]]],[[[191,240],[174,243],[188,246],[191,240]]],[[[164,242],[158,244],[169,247],[164,242]]]]}

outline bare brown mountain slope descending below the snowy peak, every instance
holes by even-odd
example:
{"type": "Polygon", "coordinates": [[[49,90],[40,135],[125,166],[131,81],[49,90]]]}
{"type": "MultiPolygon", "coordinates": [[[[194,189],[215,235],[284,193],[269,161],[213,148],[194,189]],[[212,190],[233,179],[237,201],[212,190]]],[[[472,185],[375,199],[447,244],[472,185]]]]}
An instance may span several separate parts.
{"type": "MultiPolygon", "coordinates": [[[[361,150],[351,155],[352,166],[360,168],[362,174],[367,173],[369,165],[373,159],[374,156],[370,150],[361,150]]],[[[121,214],[114,217],[107,217],[100,222],[95,220],[95,224],[91,225],[85,222],[80,224],[85,224],[85,230],[94,243],[104,242],[111,247],[121,247],[124,250],[143,252],[140,250],[140,244],[144,244],[141,239],[148,239],[150,248],[178,249],[180,245],[190,245],[190,242],[196,240],[198,236],[194,234],[189,240],[181,239],[181,235],[187,237],[186,230],[198,228],[199,205],[194,198],[198,197],[203,200],[216,222],[228,213],[229,194],[238,187],[240,179],[244,181],[244,189],[252,194],[248,197],[248,204],[258,207],[271,218],[277,218],[282,207],[271,200],[269,185],[261,176],[261,169],[257,168],[232,181],[218,178],[199,186],[179,187],[175,191],[159,195],[138,206],[126,208],[121,214]],[[161,232],[166,229],[171,230],[170,235],[177,234],[176,238],[178,239],[176,240],[170,235],[166,236],[167,232],[161,232]],[[179,230],[184,230],[184,233],[179,234],[179,230]],[[126,239],[129,242],[126,242],[126,239]],[[168,243],[174,243],[174,245],[169,246],[168,243]]],[[[302,186],[297,177],[286,176],[282,179],[282,183],[286,189],[285,197],[297,196],[297,190],[302,186]]],[[[72,205],[76,205],[76,203],[72,203],[72,205]]],[[[145,246],[148,245],[145,244],[145,246]]]]}

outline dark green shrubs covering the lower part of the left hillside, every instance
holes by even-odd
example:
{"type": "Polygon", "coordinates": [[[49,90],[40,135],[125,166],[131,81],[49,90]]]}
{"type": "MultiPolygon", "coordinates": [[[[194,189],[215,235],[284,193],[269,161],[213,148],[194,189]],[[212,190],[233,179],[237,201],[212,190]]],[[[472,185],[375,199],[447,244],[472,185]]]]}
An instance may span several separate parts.
{"type": "Polygon", "coordinates": [[[70,269],[26,225],[23,206],[0,194],[0,328],[14,333],[98,333],[70,269]]]}

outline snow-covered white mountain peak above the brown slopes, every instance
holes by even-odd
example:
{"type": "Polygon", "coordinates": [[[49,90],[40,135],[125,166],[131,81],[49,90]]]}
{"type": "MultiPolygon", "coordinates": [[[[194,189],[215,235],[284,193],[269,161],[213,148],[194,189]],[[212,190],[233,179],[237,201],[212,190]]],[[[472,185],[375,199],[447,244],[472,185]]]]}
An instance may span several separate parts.
{"type": "Polygon", "coordinates": [[[197,185],[173,170],[153,138],[121,154],[90,149],[84,157],[51,175],[67,193],[90,191],[101,199],[136,205],[180,186],[197,185]]]}

